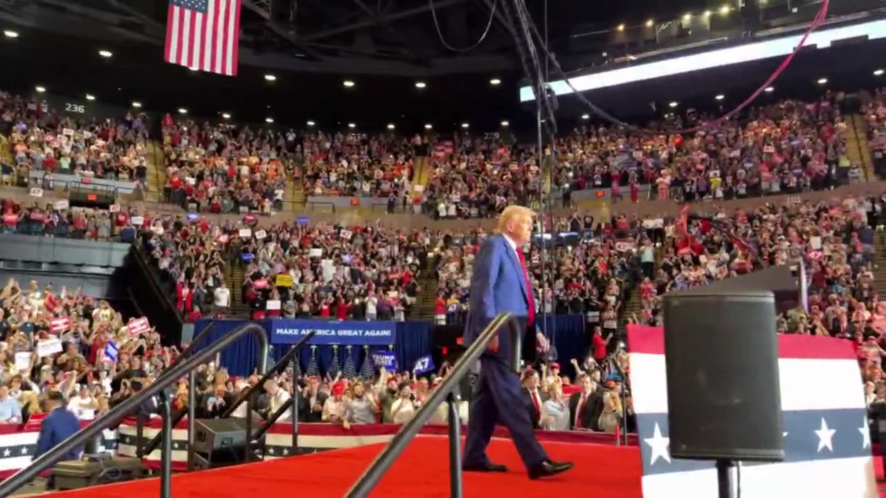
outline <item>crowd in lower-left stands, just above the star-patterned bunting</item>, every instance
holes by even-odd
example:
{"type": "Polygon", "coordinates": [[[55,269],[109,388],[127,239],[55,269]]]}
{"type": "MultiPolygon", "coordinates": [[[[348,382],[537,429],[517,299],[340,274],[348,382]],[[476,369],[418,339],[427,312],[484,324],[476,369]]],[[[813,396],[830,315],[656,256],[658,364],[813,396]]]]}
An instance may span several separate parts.
{"type": "Polygon", "coordinates": [[[0,423],[22,426],[43,416],[51,393],[80,420],[102,416],[178,354],[144,318],[127,320],[107,300],[14,278],[0,290],[0,338],[0,423]]]}

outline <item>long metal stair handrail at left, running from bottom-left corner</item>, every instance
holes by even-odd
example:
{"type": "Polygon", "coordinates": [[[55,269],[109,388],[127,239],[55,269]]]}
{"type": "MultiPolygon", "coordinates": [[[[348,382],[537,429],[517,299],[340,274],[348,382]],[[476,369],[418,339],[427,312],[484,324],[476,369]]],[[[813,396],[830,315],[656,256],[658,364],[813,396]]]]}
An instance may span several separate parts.
{"type": "MultiPolygon", "coordinates": [[[[51,467],[51,465],[57,463],[58,460],[66,455],[68,452],[74,451],[74,449],[78,447],[82,447],[90,440],[93,440],[102,431],[105,431],[105,429],[119,424],[120,418],[138,409],[138,407],[142,406],[144,402],[150,400],[153,396],[156,396],[160,393],[164,393],[163,396],[165,396],[164,389],[166,389],[169,385],[174,384],[183,375],[189,373],[191,370],[196,369],[199,365],[209,360],[209,358],[211,358],[214,354],[229,346],[231,343],[238,340],[246,333],[253,333],[259,338],[262,352],[262,357],[260,359],[260,370],[264,371],[268,358],[268,334],[265,332],[264,329],[261,328],[260,325],[256,323],[245,323],[243,326],[238,327],[236,330],[231,331],[229,334],[222,336],[217,341],[207,346],[206,349],[202,349],[196,354],[193,354],[190,358],[188,358],[188,360],[168,369],[166,373],[157,378],[157,380],[155,380],[151,385],[146,386],[141,393],[138,393],[128,400],[123,401],[122,403],[117,405],[116,408],[107,412],[104,416],[97,418],[95,422],[83,428],[82,431],[75,433],[73,436],[62,441],[61,443],[58,443],[56,447],[53,447],[49,452],[40,455],[30,465],[28,465],[24,469],[21,469],[15,474],[12,474],[12,476],[10,476],[9,478],[4,479],[4,481],[0,483],[0,496],[9,496],[10,494],[12,494],[12,492],[19,489],[19,487],[25,486],[32,479],[37,477],[41,472],[46,471],[51,467]]],[[[161,403],[164,402],[168,402],[168,399],[167,401],[161,400],[161,403]]],[[[172,424],[170,424],[170,422],[171,418],[168,415],[165,416],[163,432],[166,432],[167,435],[164,438],[163,447],[167,451],[164,451],[164,459],[171,458],[171,452],[168,451],[168,449],[170,449],[172,445],[172,424]]],[[[169,462],[171,462],[171,460],[165,461],[160,466],[160,496],[162,498],[168,498],[169,496],[169,479],[172,474],[172,472],[170,471],[169,462]]]]}

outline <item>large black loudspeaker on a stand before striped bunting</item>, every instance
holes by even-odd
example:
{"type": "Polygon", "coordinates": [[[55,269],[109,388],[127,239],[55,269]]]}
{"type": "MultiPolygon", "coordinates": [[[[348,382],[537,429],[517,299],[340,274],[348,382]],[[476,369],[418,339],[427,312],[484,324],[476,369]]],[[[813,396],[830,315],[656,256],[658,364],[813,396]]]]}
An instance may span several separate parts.
{"type": "Polygon", "coordinates": [[[664,297],[672,456],[784,460],[775,321],[768,291],[664,297]]]}

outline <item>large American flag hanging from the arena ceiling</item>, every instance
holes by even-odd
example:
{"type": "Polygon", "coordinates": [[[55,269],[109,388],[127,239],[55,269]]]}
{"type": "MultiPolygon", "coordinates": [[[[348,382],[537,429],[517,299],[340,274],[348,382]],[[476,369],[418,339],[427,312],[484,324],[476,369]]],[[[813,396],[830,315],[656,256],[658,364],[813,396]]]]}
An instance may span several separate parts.
{"type": "Polygon", "coordinates": [[[237,75],[240,0],[169,0],[164,60],[237,75]]]}

